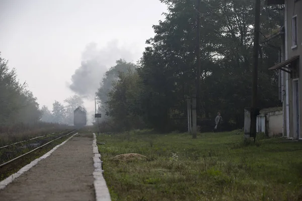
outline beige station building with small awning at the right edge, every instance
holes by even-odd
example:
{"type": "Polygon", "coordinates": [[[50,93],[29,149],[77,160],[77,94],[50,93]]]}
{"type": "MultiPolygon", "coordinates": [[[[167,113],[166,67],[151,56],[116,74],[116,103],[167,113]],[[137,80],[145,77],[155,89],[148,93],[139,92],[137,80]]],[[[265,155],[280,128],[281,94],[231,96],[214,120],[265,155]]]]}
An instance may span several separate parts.
{"type": "Polygon", "coordinates": [[[283,136],[300,139],[299,118],[302,115],[302,0],[267,0],[267,5],[285,5],[284,32],[279,31],[283,45],[280,63],[269,68],[279,71],[280,97],[283,103],[283,136]]]}

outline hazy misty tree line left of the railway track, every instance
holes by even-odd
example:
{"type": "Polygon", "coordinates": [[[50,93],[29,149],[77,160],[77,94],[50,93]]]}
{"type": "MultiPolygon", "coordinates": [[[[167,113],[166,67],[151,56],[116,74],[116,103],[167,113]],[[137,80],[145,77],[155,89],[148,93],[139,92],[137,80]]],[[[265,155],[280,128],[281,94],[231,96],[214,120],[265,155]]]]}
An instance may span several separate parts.
{"type": "Polygon", "coordinates": [[[10,70],[8,61],[0,54],[0,126],[41,121],[73,125],[73,111],[84,102],[80,96],[73,95],[64,103],[66,106],[55,100],[51,111],[46,106],[39,109],[37,98],[26,83],[19,82],[16,70],[10,70]]]}

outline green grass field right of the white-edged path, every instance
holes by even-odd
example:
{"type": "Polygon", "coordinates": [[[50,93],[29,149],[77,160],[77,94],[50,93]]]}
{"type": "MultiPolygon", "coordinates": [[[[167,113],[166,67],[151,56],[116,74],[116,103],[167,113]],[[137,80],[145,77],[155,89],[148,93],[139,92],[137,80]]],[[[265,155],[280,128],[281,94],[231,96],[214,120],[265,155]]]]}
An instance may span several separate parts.
{"type": "Polygon", "coordinates": [[[102,134],[98,142],[112,200],[302,200],[302,144],[241,131],[102,134]],[[139,153],[146,161],[116,162],[139,153]]]}

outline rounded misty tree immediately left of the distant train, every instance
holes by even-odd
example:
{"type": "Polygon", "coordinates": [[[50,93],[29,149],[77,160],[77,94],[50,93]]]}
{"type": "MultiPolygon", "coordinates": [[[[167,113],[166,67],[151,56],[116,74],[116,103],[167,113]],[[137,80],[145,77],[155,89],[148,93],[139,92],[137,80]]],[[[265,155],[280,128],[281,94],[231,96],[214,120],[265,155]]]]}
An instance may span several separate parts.
{"type": "Polygon", "coordinates": [[[78,95],[73,95],[64,100],[64,102],[67,104],[65,107],[66,112],[66,123],[68,125],[73,124],[73,111],[77,109],[79,106],[83,106],[84,101],[83,99],[78,95]]]}

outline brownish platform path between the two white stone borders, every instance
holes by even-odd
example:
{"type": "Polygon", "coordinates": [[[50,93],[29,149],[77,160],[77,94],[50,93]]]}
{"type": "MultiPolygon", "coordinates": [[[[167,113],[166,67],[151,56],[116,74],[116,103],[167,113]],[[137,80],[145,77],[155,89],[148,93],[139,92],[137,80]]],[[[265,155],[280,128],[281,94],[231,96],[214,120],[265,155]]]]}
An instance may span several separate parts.
{"type": "Polygon", "coordinates": [[[95,200],[92,142],[92,134],[75,135],[0,190],[0,200],[95,200]]]}

